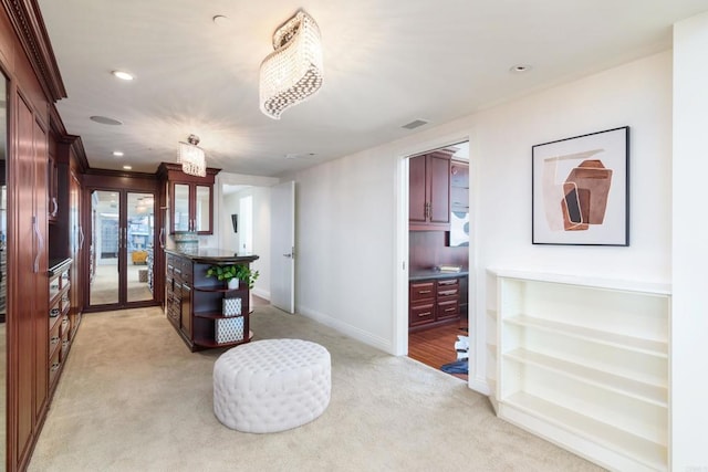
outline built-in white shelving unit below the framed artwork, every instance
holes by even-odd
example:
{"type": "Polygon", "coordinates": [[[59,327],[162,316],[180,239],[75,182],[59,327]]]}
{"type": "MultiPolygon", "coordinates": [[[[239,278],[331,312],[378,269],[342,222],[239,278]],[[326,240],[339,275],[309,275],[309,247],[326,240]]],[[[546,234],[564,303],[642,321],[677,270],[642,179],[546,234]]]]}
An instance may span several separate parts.
{"type": "Polygon", "coordinates": [[[490,274],[498,416],[611,470],[668,470],[670,289],[490,274]]]}

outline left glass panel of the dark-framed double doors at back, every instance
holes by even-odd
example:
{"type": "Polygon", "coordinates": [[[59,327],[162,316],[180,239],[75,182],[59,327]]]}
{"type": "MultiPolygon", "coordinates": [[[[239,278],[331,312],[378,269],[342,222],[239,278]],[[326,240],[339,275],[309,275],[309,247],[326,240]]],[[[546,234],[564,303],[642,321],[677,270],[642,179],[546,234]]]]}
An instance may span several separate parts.
{"type": "Polygon", "coordinates": [[[121,248],[121,200],[115,191],[94,190],[91,195],[90,305],[118,303],[121,248]]]}

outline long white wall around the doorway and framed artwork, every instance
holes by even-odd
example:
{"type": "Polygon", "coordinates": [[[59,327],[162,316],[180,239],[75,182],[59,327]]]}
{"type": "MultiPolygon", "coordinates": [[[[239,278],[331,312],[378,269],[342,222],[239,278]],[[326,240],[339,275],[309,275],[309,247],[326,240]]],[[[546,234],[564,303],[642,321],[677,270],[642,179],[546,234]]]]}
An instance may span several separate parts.
{"type": "Polygon", "coordinates": [[[397,352],[396,268],[407,254],[397,250],[400,233],[407,235],[399,221],[405,213],[398,201],[405,191],[400,159],[467,136],[475,209],[470,268],[477,268],[472,378],[486,378],[489,266],[668,282],[670,97],[667,52],[299,172],[299,312],[397,352]],[[532,245],[531,146],[625,125],[632,149],[631,247],[532,245]]]}

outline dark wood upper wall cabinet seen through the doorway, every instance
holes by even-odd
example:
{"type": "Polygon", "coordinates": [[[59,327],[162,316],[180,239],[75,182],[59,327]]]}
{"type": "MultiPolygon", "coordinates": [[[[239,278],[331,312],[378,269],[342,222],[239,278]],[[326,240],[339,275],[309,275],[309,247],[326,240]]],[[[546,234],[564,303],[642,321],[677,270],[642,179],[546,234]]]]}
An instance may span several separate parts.
{"type": "Polygon", "coordinates": [[[450,229],[450,154],[412,157],[408,166],[410,230],[450,229]]]}

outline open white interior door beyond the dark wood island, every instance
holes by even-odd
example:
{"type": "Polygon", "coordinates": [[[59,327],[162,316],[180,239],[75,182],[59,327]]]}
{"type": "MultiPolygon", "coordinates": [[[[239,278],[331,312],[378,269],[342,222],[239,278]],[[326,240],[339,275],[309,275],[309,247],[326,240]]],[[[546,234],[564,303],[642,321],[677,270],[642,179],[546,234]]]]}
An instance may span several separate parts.
{"type": "Polygon", "coordinates": [[[295,182],[271,187],[270,304],[295,312],[295,182]]]}

